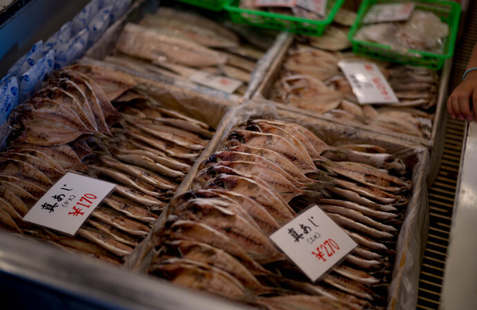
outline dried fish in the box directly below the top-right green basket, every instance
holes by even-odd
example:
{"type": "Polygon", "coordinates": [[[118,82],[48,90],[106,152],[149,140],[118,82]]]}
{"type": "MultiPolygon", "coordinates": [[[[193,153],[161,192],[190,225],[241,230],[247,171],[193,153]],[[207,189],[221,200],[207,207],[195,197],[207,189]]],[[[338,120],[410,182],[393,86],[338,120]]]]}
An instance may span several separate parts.
{"type": "Polygon", "coordinates": [[[288,51],[271,99],[290,106],[322,113],[331,118],[429,138],[437,100],[438,74],[413,66],[380,64],[400,100],[385,107],[360,105],[339,71],[338,62],[362,61],[353,55],[322,51],[297,43],[288,51]]]}

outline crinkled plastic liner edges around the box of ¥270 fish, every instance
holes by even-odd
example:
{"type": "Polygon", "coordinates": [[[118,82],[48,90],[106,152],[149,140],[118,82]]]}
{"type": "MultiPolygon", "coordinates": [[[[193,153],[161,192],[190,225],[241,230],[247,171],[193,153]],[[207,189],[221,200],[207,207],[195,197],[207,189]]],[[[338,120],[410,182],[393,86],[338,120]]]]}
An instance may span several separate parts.
{"type": "MultiPolygon", "coordinates": [[[[420,259],[429,224],[426,185],[427,174],[429,173],[429,153],[427,149],[368,131],[335,125],[326,120],[310,118],[290,111],[277,110],[272,104],[248,103],[233,108],[222,118],[221,125],[219,125],[209,147],[198,158],[194,167],[192,167],[180,185],[175,197],[187,192],[191,188],[201,161],[218,150],[221,146],[221,141],[229,134],[230,130],[250,118],[271,118],[297,123],[310,129],[318,137],[323,138],[328,145],[339,146],[349,143],[377,145],[386,149],[386,152],[389,152],[389,154],[401,158],[406,163],[412,175],[412,196],[406,208],[406,217],[400,228],[395,248],[397,254],[395,256],[391,284],[388,287],[387,309],[412,309],[415,307],[420,259]]],[[[151,235],[165,225],[169,214],[169,209],[162,212],[162,215],[156,221],[151,235]]],[[[156,255],[151,235],[131,253],[127,262],[129,268],[143,272],[147,270],[152,257],[156,255]]]]}

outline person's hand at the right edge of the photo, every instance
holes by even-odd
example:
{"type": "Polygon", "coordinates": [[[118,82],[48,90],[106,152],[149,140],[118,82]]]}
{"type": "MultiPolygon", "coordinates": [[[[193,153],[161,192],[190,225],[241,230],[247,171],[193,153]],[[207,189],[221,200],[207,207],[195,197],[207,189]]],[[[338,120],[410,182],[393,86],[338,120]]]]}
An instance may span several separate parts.
{"type": "Polygon", "coordinates": [[[447,99],[447,111],[454,120],[477,120],[477,111],[470,109],[470,100],[477,105],[477,71],[471,71],[465,76],[465,80],[453,90],[447,99]]]}

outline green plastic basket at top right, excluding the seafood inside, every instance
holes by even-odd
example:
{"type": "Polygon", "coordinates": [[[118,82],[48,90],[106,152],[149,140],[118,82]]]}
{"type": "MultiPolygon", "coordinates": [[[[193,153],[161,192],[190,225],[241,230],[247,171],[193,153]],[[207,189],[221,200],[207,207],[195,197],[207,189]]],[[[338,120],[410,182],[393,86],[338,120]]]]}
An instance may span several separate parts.
{"type": "Polygon", "coordinates": [[[440,19],[449,25],[449,35],[445,39],[443,45],[443,53],[431,53],[425,51],[415,51],[408,49],[406,51],[398,51],[383,44],[374,42],[366,42],[354,39],[359,29],[364,26],[362,20],[368,12],[369,8],[375,3],[396,3],[398,0],[364,0],[359,7],[357,18],[353,27],[348,33],[348,39],[353,44],[353,52],[357,55],[366,55],[368,57],[386,60],[388,62],[396,62],[398,64],[411,64],[413,66],[425,66],[429,69],[439,70],[442,68],[445,60],[452,57],[456,44],[457,31],[460,20],[460,4],[451,1],[439,0],[415,0],[416,9],[431,11],[440,19]]]}

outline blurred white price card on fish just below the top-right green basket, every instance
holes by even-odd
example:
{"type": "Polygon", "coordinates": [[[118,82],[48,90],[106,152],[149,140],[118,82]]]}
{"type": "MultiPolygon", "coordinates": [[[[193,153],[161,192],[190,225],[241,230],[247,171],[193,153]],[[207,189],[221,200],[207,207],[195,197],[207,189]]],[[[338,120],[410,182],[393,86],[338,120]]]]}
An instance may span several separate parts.
{"type": "Polygon", "coordinates": [[[399,102],[380,69],[372,62],[338,62],[350,82],[359,104],[393,104],[399,102]]]}

